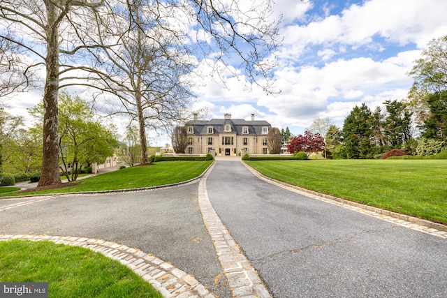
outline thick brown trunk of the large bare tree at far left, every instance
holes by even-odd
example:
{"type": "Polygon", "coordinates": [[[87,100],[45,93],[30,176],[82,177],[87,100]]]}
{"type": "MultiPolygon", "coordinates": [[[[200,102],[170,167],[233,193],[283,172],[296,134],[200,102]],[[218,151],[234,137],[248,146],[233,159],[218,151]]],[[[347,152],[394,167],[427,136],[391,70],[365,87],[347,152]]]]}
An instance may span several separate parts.
{"type": "Polygon", "coordinates": [[[56,23],[56,7],[51,1],[45,1],[48,23],[47,57],[45,59],[47,77],[43,95],[43,160],[41,179],[38,186],[61,183],[59,175],[59,112],[57,107],[59,89],[59,24],[56,23]]]}

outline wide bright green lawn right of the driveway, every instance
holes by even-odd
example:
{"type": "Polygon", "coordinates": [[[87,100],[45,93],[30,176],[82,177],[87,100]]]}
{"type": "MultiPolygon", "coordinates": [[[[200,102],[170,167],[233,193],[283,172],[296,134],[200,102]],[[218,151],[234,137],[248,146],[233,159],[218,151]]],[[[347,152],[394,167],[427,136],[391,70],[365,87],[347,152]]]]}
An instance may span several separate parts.
{"type": "Polygon", "coordinates": [[[447,224],[446,160],[246,161],[265,176],[447,224]]]}

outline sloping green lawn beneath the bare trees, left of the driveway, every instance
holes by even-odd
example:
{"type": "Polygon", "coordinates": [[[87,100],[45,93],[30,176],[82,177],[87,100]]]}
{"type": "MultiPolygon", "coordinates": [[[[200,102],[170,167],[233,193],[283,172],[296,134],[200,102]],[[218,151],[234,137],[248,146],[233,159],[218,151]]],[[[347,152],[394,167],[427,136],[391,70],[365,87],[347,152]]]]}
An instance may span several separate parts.
{"type": "MultiPolygon", "coordinates": [[[[126,167],[122,170],[78,180],[80,184],[76,186],[24,193],[24,195],[113,191],[173,184],[198,177],[211,163],[212,161],[163,161],[153,165],[126,167]]],[[[8,195],[13,195],[13,193],[8,195]]]]}

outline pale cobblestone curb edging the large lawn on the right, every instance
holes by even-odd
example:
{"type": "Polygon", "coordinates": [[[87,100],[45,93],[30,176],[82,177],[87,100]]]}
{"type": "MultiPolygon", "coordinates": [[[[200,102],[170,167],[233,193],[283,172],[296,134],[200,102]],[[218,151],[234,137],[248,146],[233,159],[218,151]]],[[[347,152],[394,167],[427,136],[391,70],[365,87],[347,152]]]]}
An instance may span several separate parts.
{"type": "Polygon", "coordinates": [[[423,232],[425,234],[431,234],[432,236],[440,237],[443,239],[447,239],[447,225],[442,225],[441,223],[434,223],[432,221],[427,221],[425,219],[408,216],[405,214],[399,214],[397,212],[388,211],[384,209],[380,209],[377,207],[368,206],[365,204],[360,204],[357,202],[351,202],[349,200],[344,200],[342,198],[337,198],[332,195],[325,195],[323,193],[318,193],[316,191],[309,191],[306,188],[301,188],[299,186],[293,186],[291,184],[286,184],[285,182],[278,181],[276,179],[272,179],[270,177],[266,177],[260,172],[254,170],[254,168],[250,167],[243,161],[241,161],[247,169],[256,175],[259,179],[263,181],[267,181],[268,183],[274,184],[276,186],[286,188],[289,191],[293,191],[295,193],[300,193],[309,198],[314,198],[316,200],[321,200],[323,202],[328,202],[330,204],[335,204],[340,207],[344,207],[347,209],[351,209],[354,211],[358,211],[362,214],[367,214],[369,216],[373,216],[375,218],[380,218],[383,221],[388,221],[390,223],[395,223],[397,225],[402,225],[405,228],[409,228],[411,230],[417,230],[419,232],[423,232]]]}

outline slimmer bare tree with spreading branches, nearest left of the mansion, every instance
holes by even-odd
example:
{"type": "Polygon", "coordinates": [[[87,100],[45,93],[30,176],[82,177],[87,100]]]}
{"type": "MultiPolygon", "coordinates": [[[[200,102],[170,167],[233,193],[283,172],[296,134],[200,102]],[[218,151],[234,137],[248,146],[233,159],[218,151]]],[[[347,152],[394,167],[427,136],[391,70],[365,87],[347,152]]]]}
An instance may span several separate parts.
{"type": "Polygon", "coordinates": [[[105,83],[102,90],[112,92],[122,103],[112,103],[112,114],[128,114],[138,122],[143,164],[149,161],[146,128],[167,131],[173,122],[182,123],[197,112],[189,108],[193,94],[188,75],[200,56],[220,52],[214,54],[215,69],[223,71],[225,68],[217,67],[222,65],[218,62],[228,64],[226,56],[233,51],[251,82],[256,82],[259,75],[269,77],[272,64],[265,58],[276,46],[276,27],[268,23],[265,10],[258,11],[255,17],[253,6],[242,12],[235,1],[234,6],[221,1],[177,0],[122,0],[115,4],[101,10],[96,33],[102,44],[115,45],[91,52],[103,61],[103,70],[97,73],[105,83]],[[205,31],[214,39],[213,46],[204,43],[203,38],[184,33],[191,31],[205,31]],[[266,45],[270,47],[260,51],[266,45]],[[101,59],[103,56],[107,59],[101,59]]]}

